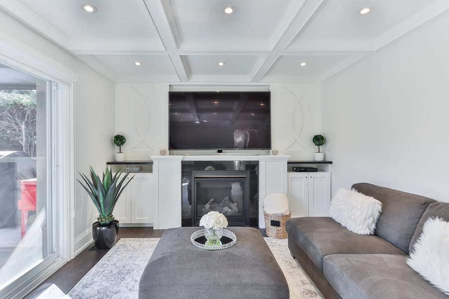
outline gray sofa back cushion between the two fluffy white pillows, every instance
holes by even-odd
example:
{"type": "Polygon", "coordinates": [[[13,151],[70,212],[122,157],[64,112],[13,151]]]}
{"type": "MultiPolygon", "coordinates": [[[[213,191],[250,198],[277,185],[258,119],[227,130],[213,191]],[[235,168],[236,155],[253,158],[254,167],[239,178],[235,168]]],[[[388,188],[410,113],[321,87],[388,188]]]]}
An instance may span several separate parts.
{"type": "Polygon", "coordinates": [[[410,241],[424,211],[436,201],[368,183],[354,184],[352,187],[382,202],[382,214],[375,234],[409,253],[410,241]]]}

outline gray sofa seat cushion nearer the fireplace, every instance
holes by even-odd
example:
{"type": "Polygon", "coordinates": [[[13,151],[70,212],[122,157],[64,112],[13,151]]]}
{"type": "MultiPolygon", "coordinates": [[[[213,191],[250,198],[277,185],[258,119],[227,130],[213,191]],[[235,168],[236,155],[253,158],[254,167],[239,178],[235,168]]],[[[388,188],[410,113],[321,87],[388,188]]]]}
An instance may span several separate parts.
{"type": "Polygon", "coordinates": [[[330,217],[291,218],[286,223],[291,238],[323,271],[323,258],[330,254],[406,253],[377,236],[350,232],[330,217]]]}

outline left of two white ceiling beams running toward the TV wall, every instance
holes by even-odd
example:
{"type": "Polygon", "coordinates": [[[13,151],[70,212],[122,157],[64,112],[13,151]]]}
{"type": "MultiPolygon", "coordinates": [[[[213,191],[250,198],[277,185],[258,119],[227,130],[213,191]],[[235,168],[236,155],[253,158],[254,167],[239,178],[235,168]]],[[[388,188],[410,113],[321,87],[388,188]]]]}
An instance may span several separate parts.
{"type": "Polygon", "coordinates": [[[170,20],[173,17],[168,16],[173,14],[173,9],[170,6],[169,0],[143,0],[148,14],[151,20],[158,31],[159,37],[161,38],[162,43],[164,44],[165,49],[167,50],[167,54],[170,57],[170,60],[175,68],[176,74],[179,77],[181,82],[187,82],[190,79],[190,72],[188,64],[186,63],[185,58],[178,54],[178,43],[177,40],[180,38],[179,30],[176,28],[172,28],[172,24],[170,20]],[[165,6],[165,7],[164,7],[165,6]],[[168,7],[170,6],[170,7],[168,7]],[[178,31],[178,33],[176,32],[178,31]]]}

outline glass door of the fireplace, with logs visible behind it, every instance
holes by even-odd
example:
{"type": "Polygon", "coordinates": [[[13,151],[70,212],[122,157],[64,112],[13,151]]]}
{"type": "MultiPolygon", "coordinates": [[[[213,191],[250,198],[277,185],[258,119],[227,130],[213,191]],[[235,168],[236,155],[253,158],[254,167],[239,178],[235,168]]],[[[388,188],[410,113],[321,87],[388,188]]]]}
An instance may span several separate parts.
{"type": "Polygon", "coordinates": [[[203,215],[218,211],[229,225],[244,225],[246,215],[246,177],[195,178],[195,223],[203,215]]]}

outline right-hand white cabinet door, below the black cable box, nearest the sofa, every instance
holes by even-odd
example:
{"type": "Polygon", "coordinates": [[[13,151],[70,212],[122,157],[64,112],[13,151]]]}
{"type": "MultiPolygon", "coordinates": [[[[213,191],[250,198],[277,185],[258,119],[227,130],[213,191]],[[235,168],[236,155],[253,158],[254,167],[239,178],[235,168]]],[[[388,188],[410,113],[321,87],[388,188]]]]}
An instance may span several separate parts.
{"type": "Polygon", "coordinates": [[[329,172],[311,172],[309,175],[309,216],[329,216],[329,172]]]}

